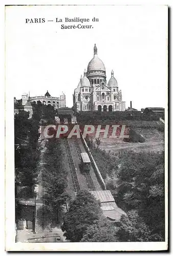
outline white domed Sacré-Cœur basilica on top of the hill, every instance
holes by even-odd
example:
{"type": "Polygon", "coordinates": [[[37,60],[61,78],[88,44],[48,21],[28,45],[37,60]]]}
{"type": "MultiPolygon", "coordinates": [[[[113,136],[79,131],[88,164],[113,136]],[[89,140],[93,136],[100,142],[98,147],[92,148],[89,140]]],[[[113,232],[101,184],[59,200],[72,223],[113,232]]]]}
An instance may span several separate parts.
{"type": "Polygon", "coordinates": [[[124,111],[121,90],[118,89],[114,71],[111,71],[109,82],[106,81],[104,63],[97,55],[94,46],[94,57],[84,70],[78,87],[74,90],[73,105],[76,111],[124,111]]]}

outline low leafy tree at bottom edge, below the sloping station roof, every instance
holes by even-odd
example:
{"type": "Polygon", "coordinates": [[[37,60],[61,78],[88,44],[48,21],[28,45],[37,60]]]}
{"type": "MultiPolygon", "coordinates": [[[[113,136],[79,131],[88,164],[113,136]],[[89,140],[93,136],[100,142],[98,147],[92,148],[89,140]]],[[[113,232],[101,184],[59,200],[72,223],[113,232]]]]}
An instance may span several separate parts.
{"type": "Polygon", "coordinates": [[[80,242],[117,242],[116,227],[104,217],[86,230],[80,242]]]}

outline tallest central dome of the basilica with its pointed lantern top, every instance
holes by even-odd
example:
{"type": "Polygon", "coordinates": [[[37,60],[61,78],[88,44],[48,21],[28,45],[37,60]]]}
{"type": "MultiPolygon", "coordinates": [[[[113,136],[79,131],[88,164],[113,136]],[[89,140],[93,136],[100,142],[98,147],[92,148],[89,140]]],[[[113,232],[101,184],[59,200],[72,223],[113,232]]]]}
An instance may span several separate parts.
{"type": "Polygon", "coordinates": [[[87,72],[93,71],[93,70],[102,70],[105,72],[105,67],[104,67],[103,61],[101,59],[99,59],[99,57],[97,56],[96,45],[94,46],[94,57],[89,62],[87,72]]]}

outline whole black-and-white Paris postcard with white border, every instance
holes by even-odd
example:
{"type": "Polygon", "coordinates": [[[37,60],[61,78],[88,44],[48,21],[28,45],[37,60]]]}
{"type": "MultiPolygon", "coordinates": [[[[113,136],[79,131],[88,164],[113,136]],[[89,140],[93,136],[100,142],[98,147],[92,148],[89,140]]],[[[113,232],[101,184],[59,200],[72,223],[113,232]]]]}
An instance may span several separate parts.
{"type": "Polygon", "coordinates": [[[5,8],[6,250],[168,246],[168,7],[5,8]]]}

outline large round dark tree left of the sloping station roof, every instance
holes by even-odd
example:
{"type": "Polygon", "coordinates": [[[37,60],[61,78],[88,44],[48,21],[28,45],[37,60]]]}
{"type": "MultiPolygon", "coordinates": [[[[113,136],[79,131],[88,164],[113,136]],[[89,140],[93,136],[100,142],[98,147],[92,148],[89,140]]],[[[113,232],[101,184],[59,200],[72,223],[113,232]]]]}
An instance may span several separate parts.
{"type": "Polygon", "coordinates": [[[80,190],[64,216],[62,231],[71,242],[80,242],[87,229],[102,215],[100,202],[85,190],[80,190]]]}

